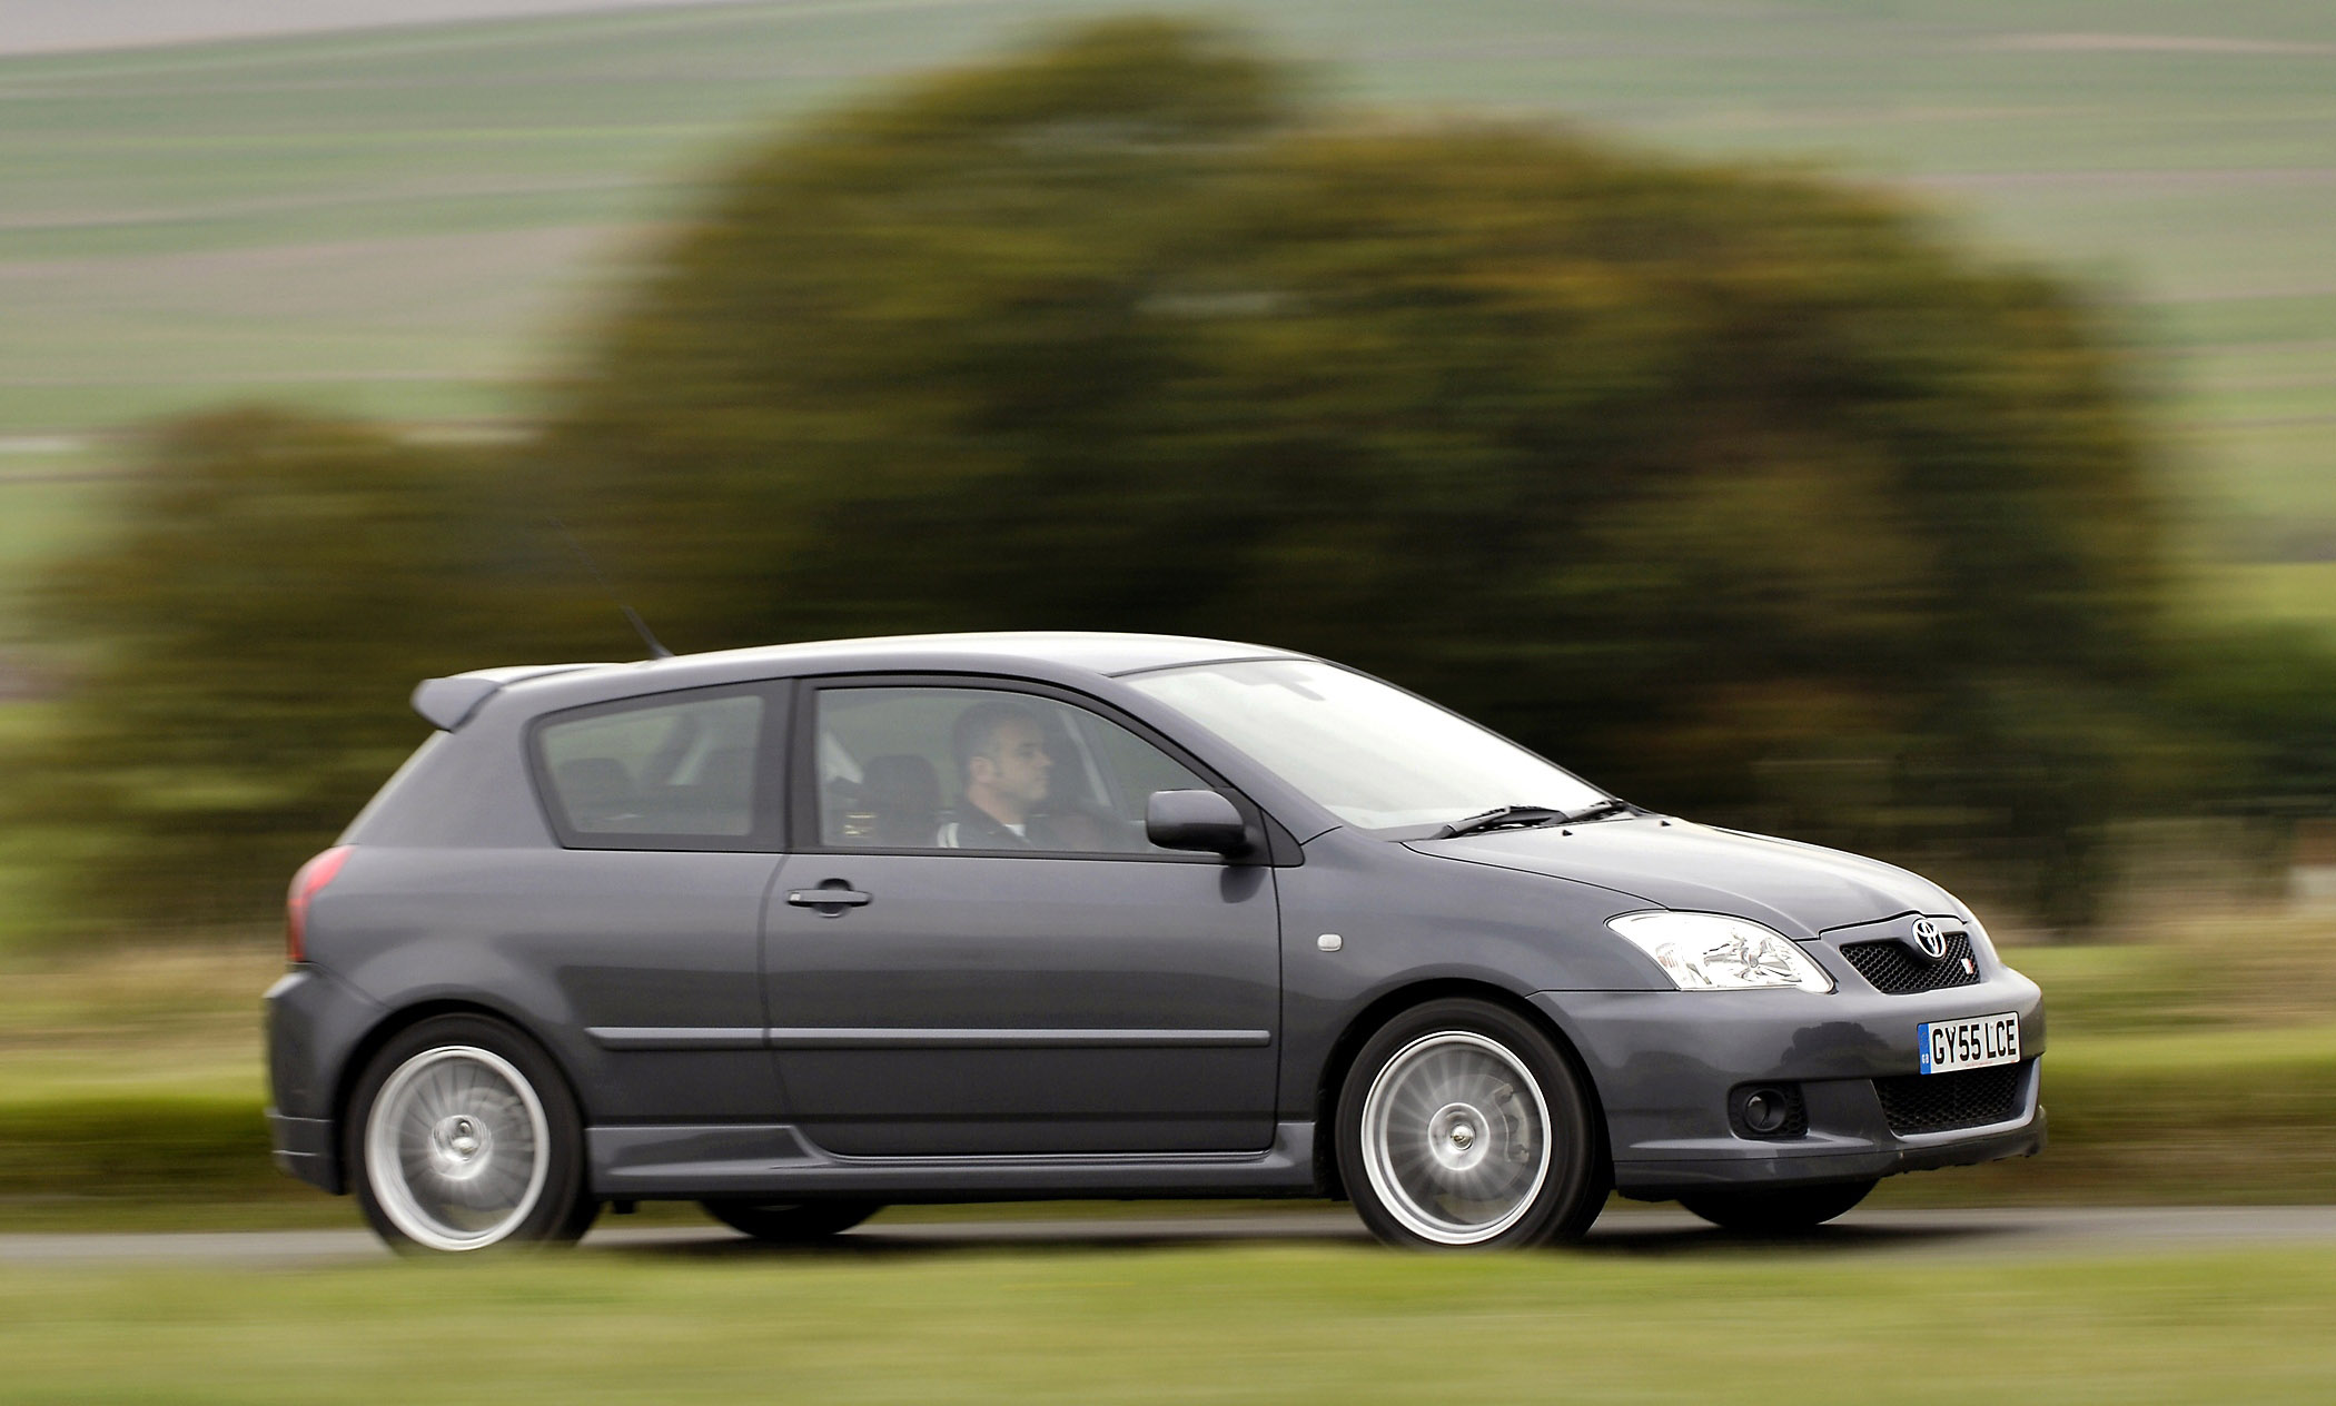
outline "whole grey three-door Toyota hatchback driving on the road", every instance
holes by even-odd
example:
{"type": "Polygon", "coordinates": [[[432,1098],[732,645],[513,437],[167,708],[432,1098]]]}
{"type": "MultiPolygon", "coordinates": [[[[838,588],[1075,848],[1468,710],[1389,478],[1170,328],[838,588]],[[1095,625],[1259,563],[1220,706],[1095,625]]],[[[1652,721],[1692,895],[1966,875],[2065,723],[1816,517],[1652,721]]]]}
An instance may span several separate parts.
{"type": "Polygon", "coordinates": [[[932,635],[427,680],[290,895],[278,1163],[402,1250],[698,1200],[1341,1196],[1537,1245],[2035,1154],[1946,890],[1617,801],[1362,673],[932,635]]]}

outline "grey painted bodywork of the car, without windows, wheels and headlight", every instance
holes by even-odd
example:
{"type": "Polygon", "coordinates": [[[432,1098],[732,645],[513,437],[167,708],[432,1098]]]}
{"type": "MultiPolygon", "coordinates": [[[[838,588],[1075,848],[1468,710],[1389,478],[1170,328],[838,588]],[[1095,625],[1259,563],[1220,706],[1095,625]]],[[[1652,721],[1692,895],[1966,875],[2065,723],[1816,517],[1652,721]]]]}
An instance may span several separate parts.
{"type": "Polygon", "coordinates": [[[1976,925],[1979,981],[1953,990],[1880,995],[1838,953],[1848,925],[1969,923],[1937,885],[1668,817],[1374,836],[1114,677],[1273,656],[1289,654],[944,635],[425,684],[418,708],[453,731],[341,836],[353,850],[311,909],[308,962],[269,993],[280,1161],[341,1189],[343,1102],[367,1053],[467,1007],[568,1074],[603,1196],[1336,1191],[1325,1119],[1343,1063],[1388,1014],[1469,990],[1560,1035],[1626,1193],[2042,1144],[2042,997],[1976,925]],[[822,855],[801,824],[790,838],[778,796],[759,801],[769,829],[731,850],[582,850],[554,834],[526,747],[540,717],[841,675],[1004,682],[1117,712],[1236,794],[1271,829],[1271,862],[822,855]],[[787,902],[829,881],[881,902],[836,916],[787,902]],[[951,916],[948,895],[1007,906],[951,916]],[[1014,906],[1028,913],[1004,918],[1014,906]],[[1778,927],[1838,990],[1673,990],[1605,927],[1656,906],[1778,927]],[[2018,1116],[1892,1135],[1873,1079],[1916,1070],[1916,1025],[1990,1011],[2021,1016],[2018,1116]],[[1726,1095],[1754,1079],[1803,1081],[1808,1135],[1731,1130],[1726,1095]]]}

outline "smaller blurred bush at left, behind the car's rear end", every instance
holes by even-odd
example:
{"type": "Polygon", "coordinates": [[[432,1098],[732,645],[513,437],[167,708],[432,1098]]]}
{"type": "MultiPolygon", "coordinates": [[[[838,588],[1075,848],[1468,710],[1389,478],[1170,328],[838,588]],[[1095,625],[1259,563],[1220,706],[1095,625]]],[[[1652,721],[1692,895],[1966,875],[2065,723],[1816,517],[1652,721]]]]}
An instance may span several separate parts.
{"type": "Polygon", "coordinates": [[[427,736],[406,708],[418,677],[558,631],[486,462],[273,411],[150,437],[119,533],[49,586],[72,696],[7,799],[82,857],[82,911],[271,909],[427,736]]]}

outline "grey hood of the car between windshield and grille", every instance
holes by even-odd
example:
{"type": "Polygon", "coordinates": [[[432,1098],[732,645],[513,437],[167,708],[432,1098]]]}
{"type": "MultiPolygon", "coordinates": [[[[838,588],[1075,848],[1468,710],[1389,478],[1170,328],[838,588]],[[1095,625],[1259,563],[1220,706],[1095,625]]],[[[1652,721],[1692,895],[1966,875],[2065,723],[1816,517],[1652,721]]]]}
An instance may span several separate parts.
{"type": "Polygon", "coordinates": [[[1439,859],[1593,883],[1649,906],[1752,918],[1789,937],[1899,913],[1958,913],[1944,888],[1894,864],[1687,820],[1593,820],[1409,845],[1439,859]]]}

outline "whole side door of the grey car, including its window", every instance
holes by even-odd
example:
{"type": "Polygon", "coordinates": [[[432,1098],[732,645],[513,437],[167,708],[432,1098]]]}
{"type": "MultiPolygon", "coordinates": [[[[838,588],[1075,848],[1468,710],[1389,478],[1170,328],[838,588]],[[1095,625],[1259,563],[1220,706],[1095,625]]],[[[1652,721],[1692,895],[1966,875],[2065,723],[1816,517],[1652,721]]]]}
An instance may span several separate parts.
{"type": "Polygon", "coordinates": [[[794,773],[764,1000],[790,1116],[818,1144],[1271,1142],[1273,869],[1142,838],[1149,792],[1212,785],[1189,757],[1035,684],[846,677],[806,687],[794,773]],[[1023,754],[1018,806],[981,757],[997,738],[1023,754]]]}

